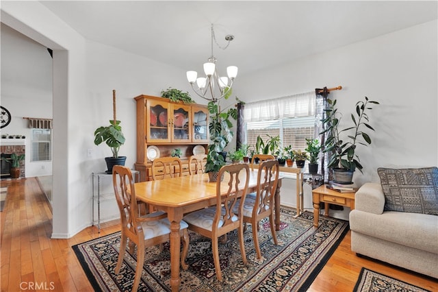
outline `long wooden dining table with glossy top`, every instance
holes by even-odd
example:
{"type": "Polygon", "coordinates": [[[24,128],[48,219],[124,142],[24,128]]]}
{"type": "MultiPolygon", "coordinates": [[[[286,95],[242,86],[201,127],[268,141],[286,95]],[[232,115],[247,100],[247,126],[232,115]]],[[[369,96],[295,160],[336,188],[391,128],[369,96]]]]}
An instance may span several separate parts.
{"type": "MultiPolygon", "coordinates": [[[[280,178],[274,196],[276,230],[280,227],[281,180],[280,178]]],[[[224,184],[223,189],[226,190],[227,178],[224,178],[222,184],[224,184]]],[[[170,287],[172,291],[178,291],[181,282],[179,277],[180,222],[186,213],[216,204],[216,182],[209,182],[207,173],[203,173],[166,180],[137,182],[134,185],[138,200],[167,212],[170,221],[170,287]]],[[[248,193],[255,191],[257,191],[257,170],[250,170],[248,193]]]]}

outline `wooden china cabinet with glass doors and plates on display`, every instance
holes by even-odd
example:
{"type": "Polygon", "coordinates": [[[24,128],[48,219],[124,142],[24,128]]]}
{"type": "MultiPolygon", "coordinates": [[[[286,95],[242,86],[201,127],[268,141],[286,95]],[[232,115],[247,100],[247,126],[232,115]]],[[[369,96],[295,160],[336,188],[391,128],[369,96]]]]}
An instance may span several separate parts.
{"type": "Polygon", "coordinates": [[[207,106],[172,102],[163,97],[139,95],[137,103],[137,161],[140,181],[151,180],[155,157],[182,151],[183,173],[188,175],[188,158],[207,153],[209,143],[207,106]]]}

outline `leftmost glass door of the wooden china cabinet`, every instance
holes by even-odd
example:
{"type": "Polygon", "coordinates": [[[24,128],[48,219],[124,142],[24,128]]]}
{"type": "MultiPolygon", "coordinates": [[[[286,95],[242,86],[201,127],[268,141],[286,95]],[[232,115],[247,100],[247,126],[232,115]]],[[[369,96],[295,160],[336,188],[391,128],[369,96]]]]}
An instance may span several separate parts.
{"type": "Polygon", "coordinates": [[[149,142],[170,141],[168,104],[151,103],[146,107],[146,110],[146,129],[149,129],[149,131],[147,131],[147,140],[149,142]]]}

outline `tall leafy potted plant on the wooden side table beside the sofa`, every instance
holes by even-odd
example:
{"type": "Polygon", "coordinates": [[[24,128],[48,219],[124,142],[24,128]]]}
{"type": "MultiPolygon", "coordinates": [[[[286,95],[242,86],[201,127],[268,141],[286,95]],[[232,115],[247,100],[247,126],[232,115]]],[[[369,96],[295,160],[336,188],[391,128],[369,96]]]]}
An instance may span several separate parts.
{"type": "Polygon", "coordinates": [[[368,124],[370,119],[367,110],[372,110],[370,104],[379,103],[371,101],[368,97],[365,97],[365,101],[357,101],[355,114],[351,114],[353,125],[339,129],[342,114],[337,111],[336,99],[333,101],[327,99],[327,102],[329,108],[324,110],[326,118],[321,120],[326,125],[326,129],[320,134],[327,134],[323,152],[331,155],[328,167],[333,169],[333,179],[339,183],[350,184],[354,171],[359,169],[362,172],[363,169],[359,156],[355,153],[357,145],[371,144],[370,136],[361,129],[366,127],[374,131],[374,128],[368,124]]]}

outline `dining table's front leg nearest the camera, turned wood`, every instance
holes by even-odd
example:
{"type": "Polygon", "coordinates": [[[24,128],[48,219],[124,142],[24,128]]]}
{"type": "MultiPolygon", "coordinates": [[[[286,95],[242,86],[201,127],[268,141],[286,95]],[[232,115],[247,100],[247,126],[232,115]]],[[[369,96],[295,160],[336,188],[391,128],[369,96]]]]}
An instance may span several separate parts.
{"type": "MultiPolygon", "coordinates": [[[[181,221],[181,220],[180,220],[181,221]]],[[[171,221],[170,223],[170,287],[172,291],[179,291],[179,262],[181,237],[179,236],[180,221],[171,221]]]]}

